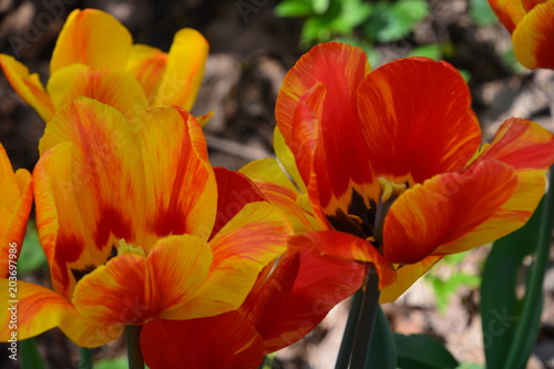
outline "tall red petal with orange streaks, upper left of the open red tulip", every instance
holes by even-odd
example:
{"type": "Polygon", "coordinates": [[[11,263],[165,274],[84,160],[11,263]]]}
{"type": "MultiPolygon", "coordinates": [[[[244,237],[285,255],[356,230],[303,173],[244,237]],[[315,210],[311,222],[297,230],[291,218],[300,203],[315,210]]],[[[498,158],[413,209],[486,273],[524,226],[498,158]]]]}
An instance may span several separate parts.
{"type": "Polygon", "coordinates": [[[351,182],[365,184],[372,178],[356,106],[356,91],[367,73],[369,64],[361,49],[343,43],[322,43],[314,47],[287,73],[277,98],[277,125],[296,156],[306,184],[310,178],[306,172],[311,171],[311,165],[300,165],[298,161],[306,157],[309,162],[312,151],[304,155],[295,151],[301,148],[298,140],[309,142],[315,137],[302,135],[317,133],[312,171],[318,176],[324,208],[334,198],[347,194],[351,182]]]}

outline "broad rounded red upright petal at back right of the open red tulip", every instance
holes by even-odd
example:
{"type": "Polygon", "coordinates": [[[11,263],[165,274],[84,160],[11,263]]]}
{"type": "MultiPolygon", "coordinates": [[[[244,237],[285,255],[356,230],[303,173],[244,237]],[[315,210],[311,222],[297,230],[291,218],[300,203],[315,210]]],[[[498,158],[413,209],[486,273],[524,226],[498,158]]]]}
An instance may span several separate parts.
{"type": "Polygon", "coordinates": [[[481,144],[468,85],[445,62],[388,63],[363,80],[358,98],[366,160],[376,176],[411,175],[421,183],[462,168],[481,144]]]}

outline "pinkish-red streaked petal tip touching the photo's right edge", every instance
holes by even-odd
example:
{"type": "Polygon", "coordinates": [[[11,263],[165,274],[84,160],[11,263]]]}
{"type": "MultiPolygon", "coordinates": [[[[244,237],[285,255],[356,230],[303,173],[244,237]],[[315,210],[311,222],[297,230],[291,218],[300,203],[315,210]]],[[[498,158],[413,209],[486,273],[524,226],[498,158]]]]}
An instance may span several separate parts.
{"type": "Polygon", "coordinates": [[[546,170],[554,163],[554,135],[538,124],[511,117],[475,158],[496,160],[515,170],[546,170]]]}

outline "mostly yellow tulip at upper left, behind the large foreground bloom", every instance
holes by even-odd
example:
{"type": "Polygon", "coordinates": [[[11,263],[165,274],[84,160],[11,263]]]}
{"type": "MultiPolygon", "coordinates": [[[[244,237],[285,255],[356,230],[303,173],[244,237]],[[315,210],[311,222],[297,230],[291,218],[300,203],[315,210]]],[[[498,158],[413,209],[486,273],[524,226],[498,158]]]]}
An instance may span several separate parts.
{"type": "Polygon", "coordinates": [[[193,106],[208,44],[193,29],[179,30],[168,53],[133,44],[113,16],[96,9],[74,10],[58,38],[44,88],[37,73],[13,57],[0,66],[19,95],[49,122],[68,102],[88,96],[134,120],[152,105],[193,106]]]}

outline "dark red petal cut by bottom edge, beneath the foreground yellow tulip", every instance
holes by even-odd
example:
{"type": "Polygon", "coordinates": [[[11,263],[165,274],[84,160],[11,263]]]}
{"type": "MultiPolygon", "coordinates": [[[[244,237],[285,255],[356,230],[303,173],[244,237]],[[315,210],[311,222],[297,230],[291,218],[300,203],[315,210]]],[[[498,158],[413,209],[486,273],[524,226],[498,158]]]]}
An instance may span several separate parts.
{"type": "Polygon", "coordinates": [[[153,369],[256,369],[265,355],[256,329],[237,311],[193,320],[154,319],[142,328],[141,348],[153,369]]]}

